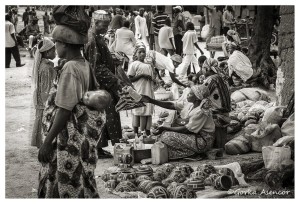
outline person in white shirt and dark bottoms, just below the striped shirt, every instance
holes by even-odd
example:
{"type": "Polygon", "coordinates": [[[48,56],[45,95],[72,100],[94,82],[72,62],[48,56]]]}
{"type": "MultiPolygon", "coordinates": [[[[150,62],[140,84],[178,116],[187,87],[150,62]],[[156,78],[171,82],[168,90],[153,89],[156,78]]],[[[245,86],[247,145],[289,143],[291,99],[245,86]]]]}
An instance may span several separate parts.
{"type": "Polygon", "coordinates": [[[165,20],[165,25],[158,32],[158,43],[161,48],[161,53],[165,56],[170,54],[172,56],[175,52],[174,46],[174,34],[171,28],[171,20],[167,18],[165,20]]]}

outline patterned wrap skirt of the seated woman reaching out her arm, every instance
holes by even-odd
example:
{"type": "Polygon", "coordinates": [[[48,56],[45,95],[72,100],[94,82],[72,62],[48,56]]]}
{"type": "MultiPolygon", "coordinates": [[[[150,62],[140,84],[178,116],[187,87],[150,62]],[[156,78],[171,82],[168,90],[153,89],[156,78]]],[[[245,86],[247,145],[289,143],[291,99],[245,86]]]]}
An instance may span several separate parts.
{"type": "Polygon", "coordinates": [[[167,145],[170,160],[182,159],[210,150],[214,143],[214,133],[201,131],[196,135],[164,131],[160,140],[167,145]]]}

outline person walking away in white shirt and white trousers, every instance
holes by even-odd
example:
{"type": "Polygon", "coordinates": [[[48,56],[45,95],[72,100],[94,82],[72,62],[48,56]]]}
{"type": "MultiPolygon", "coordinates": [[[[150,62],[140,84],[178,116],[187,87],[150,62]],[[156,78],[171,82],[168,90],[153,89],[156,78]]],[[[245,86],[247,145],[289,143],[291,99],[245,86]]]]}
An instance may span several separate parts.
{"type": "Polygon", "coordinates": [[[198,38],[194,24],[192,22],[187,22],[186,28],[187,32],[182,38],[184,57],[182,63],[177,68],[177,70],[179,71],[178,74],[183,76],[187,74],[187,69],[191,63],[195,70],[200,70],[197,57],[195,56],[195,47],[200,51],[201,55],[204,54],[204,52],[200,49],[200,47],[197,44],[198,38]]]}

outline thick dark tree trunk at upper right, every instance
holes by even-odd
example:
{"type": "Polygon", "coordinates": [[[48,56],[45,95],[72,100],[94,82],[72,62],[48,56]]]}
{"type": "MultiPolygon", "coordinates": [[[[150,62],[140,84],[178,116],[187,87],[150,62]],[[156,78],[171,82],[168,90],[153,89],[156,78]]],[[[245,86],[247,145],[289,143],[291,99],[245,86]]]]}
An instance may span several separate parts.
{"type": "Polygon", "coordinates": [[[270,57],[270,44],[274,26],[274,6],[258,6],[254,32],[249,42],[248,56],[257,82],[269,88],[275,84],[276,67],[270,57]]]}

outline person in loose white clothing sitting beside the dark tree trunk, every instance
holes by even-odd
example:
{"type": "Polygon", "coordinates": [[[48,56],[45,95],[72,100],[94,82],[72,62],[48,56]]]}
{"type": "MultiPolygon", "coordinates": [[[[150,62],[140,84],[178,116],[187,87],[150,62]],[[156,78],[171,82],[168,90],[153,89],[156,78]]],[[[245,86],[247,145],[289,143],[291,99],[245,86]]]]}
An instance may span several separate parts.
{"type": "Polygon", "coordinates": [[[253,75],[250,59],[237,48],[234,43],[228,46],[228,51],[231,55],[227,61],[229,77],[234,82],[240,81],[239,83],[235,83],[235,85],[247,82],[253,75]]]}

